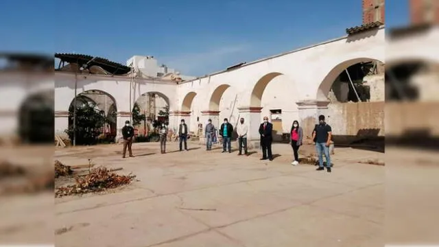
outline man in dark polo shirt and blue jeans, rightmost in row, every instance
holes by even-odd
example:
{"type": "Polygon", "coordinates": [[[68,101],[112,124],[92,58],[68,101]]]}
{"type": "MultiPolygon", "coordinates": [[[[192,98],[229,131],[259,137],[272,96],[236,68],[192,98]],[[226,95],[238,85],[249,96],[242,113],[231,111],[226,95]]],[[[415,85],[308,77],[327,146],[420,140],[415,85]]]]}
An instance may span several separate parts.
{"type": "Polygon", "coordinates": [[[327,171],[331,172],[331,157],[329,156],[329,144],[331,142],[332,130],[331,126],[324,121],[324,115],[318,117],[319,124],[316,124],[313,130],[313,142],[316,145],[318,153],[318,171],[322,171],[323,153],[327,160],[327,171]]]}

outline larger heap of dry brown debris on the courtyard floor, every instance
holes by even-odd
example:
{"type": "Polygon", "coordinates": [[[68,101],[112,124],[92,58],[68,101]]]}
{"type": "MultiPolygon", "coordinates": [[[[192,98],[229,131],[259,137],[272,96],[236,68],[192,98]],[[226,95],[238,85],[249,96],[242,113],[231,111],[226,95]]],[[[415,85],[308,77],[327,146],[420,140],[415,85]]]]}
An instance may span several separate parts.
{"type": "Polygon", "coordinates": [[[97,167],[92,169],[90,174],[84,177],[75,177],[75,185],[59,187],[55,192],[55,196],[62,197],[114,189],[122,185],[130,184],[135,177],[136,176],[132,175],[118,175],[110,172],[106,167],[97,167]]]}

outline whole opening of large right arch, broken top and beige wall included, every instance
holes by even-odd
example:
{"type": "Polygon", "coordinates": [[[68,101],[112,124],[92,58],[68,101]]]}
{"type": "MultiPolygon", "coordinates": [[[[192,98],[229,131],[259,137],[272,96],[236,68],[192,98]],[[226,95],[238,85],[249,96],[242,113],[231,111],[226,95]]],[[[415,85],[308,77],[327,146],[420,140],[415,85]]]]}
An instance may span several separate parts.
{"type": "Polygon", "coordinates": [[[337,76],[327,97],[335,145],[384,150],[385,65],[359,62],[337,76]]]}

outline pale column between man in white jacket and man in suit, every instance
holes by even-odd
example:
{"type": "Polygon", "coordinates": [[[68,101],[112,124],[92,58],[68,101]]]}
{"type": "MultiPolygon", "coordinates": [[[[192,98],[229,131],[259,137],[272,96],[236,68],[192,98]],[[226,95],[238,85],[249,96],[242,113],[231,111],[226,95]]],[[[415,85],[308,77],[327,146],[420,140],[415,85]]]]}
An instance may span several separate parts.
{"type": "MultiPolygon", "coordinates": [[[[239,119],[244,118],[248,126],[247,143],[249,148],[259,148],[260,136],[259,126],[261,125],[262,107],[241,106],[238,107],[239,119]]],[[[238,119],[238,120],[239,120],[238,119]]]]}

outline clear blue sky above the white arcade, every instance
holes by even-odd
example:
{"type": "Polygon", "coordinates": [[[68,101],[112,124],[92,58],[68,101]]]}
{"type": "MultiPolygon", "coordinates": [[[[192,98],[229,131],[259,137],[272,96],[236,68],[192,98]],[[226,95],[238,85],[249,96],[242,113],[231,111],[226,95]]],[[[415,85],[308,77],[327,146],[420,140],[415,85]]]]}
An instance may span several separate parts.
{"type": "MultiPolygon", "coordinates": [[[[386,25],[407,23],[388,0],[386,25]]],[[[0,1],[1,51],[80,53],[126,63],[152,55],[204,75],[343,36],[361,24],[361,0],[0,1]]]]}

